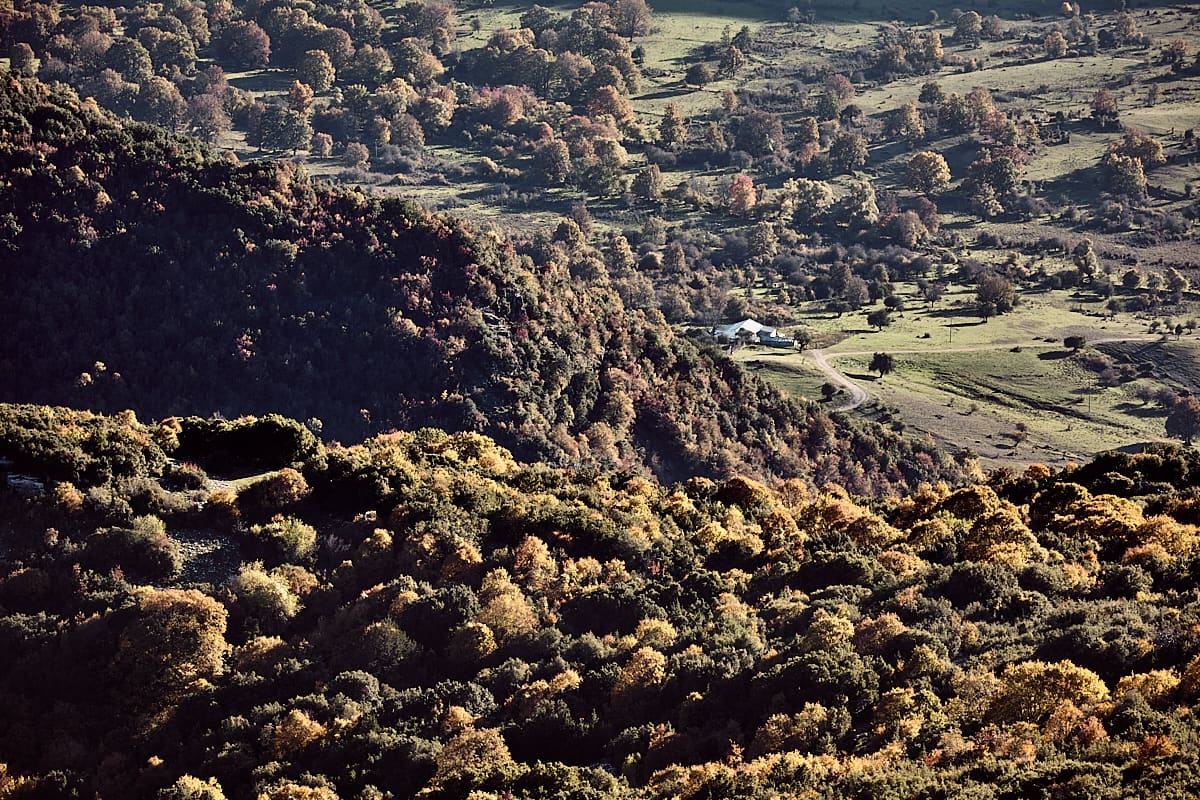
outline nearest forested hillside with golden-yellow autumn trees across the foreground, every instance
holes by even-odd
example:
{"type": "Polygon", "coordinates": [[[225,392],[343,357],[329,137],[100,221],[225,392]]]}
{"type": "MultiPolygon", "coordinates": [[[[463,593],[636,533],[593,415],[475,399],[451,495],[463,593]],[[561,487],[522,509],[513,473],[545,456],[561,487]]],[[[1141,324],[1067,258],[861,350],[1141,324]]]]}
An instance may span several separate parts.
{"type": "Polygon", "coordinates": [[[1193,451],[866,503],[8,405],[0,457],[4,798],[1200,790],[1193,451]]]}

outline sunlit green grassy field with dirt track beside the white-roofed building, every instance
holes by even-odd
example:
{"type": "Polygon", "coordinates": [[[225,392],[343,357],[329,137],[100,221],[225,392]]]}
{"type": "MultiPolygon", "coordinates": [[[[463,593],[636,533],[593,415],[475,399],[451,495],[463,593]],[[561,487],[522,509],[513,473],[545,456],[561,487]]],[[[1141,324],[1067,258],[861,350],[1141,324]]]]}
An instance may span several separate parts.
{"type": "MultiPolygon", "coordinates": [[[[1150,318],[1109,319],[1098,301],[1066,290],[1027,293],[1014,312],[983,323],[966,311],[970,296],[960,289],[935,306],[922,303],[882,331],[866,324],[864,312],[805,311],[802,324],[830,363],[870,393],[853,414],[970,447],[985,467],[1062,464],[1162,439],[1165,411],[1136,399],[1134,390],[1200,389],[1193,333],[1162,341],[1150,332],[1150,318]],[[1073,354],[1063,345],[1067,336],[1093,344],[1073,354]],[[895,371],[871,373],[874,353],[892,354],[895,371]],[[1153,365],[1153,378],[1104,386],[1082,366],[1097,353],[1118,366],[1153,365]],[[1018,425],[1024,435],[1015,435],[1018,425]]],[[[827,380],[809,354],[746,347],[736,357],[792,395],[820,398],[827,380]]]]}

